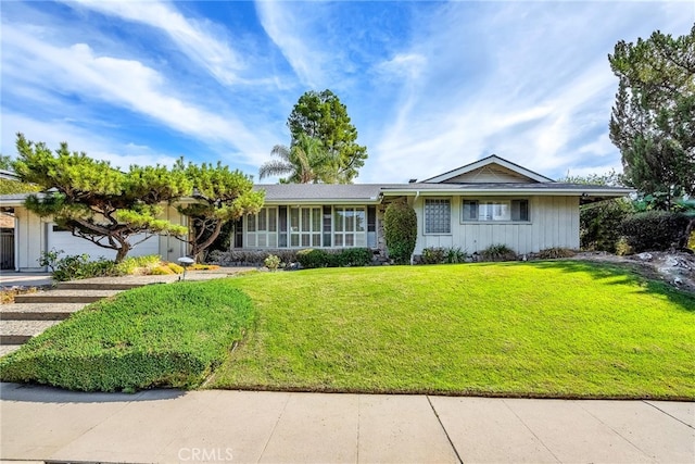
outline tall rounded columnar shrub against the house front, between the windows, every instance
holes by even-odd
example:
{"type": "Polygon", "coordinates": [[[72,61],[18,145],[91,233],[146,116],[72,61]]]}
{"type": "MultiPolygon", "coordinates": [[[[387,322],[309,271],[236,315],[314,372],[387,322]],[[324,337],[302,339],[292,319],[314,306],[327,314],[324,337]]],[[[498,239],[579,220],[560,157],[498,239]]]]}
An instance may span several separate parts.
{"type": "Polygon", "coordinates": [[[404,201],[387,206],[383,214],[383,233],[389,258],[396,264],[407,264],[417,241],[417,214],[404,201]]]}

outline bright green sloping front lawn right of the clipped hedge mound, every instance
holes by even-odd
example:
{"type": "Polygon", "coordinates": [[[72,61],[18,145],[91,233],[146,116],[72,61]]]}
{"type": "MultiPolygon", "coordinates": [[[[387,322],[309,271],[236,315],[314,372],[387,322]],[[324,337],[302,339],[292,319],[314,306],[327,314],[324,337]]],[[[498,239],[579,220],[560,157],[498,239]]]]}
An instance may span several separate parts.
{"type": "Polygon", "coordinates": [[[586,262],[233,280],[255,329],[212,388],[695,399],[695,298],[586,262]]]}

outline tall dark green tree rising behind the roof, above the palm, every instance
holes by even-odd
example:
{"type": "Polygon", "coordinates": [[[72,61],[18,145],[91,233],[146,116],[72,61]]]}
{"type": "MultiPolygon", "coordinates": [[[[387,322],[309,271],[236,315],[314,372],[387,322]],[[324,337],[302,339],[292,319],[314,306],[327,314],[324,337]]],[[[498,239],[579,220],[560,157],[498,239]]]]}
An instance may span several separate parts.
{"type": "Polygon", "coordinates": [[[348,116],[348,108],[338,96],[326,89],[307,91],[294,105],[287,125],[292,145],[302,134],[319,139],[331,156],[337,159],[334,181],[350,184],[367,159],[367,148],[357,145],[357,129],[348,116]]]}

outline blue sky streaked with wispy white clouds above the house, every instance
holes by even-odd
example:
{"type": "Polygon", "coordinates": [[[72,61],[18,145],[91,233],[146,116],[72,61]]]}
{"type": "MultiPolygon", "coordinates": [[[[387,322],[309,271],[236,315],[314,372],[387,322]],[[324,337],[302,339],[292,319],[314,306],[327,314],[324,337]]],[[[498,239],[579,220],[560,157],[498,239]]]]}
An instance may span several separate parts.
{"type": "MultiPolygon", "coordinates": [[[[222,161],[257,178],[306,90],[346,104],[358,183],[490,154],[553,178],[620,170],[618,40],[687,34],[694,1],[2,1],[1,136],[116,166],[222,161]]],[[[271,179],[273,180],[273,179],[271,179]]]]}

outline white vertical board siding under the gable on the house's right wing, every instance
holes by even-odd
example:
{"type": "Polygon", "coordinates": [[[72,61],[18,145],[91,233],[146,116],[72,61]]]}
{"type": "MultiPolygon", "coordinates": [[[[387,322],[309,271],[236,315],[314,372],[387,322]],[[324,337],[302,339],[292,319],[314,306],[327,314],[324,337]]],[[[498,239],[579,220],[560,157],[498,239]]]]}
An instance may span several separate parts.
{"type": "MultiPolygon", "coordinates": [[[[421,254],[422,249],[430,247],[459,247],[467,253],[473,253],[498,243],[510,247],[519,254],[539,252],[553,247],[579,249],[578,197],[528,197],[530,215],[528,223],[463,223],[462,197],[437,198],[451,200],[452,233],[425,234],[425,198],[419,197],[414,204],[418,216],[415,254],[421,254]]],[[[465,198],[484,199],[484,197],[465,198]]]]}

